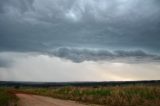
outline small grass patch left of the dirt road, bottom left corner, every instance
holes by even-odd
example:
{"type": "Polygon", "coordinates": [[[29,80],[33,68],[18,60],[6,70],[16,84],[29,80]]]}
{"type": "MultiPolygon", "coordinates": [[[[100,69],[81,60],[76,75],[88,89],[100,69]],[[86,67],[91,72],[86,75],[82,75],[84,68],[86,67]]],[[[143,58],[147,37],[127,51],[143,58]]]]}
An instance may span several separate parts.
{"type": "Polygon", "coordinates": [[[14,94],[0,88],[0,106],[16,106],[17,100],[14,94]]]}

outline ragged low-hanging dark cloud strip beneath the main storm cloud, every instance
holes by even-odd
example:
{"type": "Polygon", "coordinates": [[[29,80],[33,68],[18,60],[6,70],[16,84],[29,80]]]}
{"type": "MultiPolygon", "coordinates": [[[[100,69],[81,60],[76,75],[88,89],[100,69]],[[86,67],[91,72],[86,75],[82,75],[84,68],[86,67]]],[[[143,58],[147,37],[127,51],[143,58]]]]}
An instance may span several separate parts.
{"type": "Polygon", "coordinates": [[[52,55],[76,63],[84,61],[159,62],[160,56],[143,50],[97,50],[78,48],[58,48],[52,55]]]}

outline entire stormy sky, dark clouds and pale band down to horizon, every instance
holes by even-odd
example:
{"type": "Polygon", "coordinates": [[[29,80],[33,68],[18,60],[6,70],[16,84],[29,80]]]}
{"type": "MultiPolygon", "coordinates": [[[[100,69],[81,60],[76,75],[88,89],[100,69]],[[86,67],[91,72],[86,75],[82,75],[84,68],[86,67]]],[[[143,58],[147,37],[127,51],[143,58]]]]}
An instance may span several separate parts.
{"type": "Polygon", "coordinates": [[[1,81],[160,80],[159,0],[0,0],[1,81]]]}

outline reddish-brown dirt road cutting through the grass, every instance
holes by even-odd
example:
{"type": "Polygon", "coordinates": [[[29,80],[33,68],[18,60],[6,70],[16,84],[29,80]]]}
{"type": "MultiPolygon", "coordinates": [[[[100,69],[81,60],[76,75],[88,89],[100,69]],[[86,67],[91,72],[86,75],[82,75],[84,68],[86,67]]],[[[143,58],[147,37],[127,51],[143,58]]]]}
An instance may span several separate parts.
{"type": "Polygon", "coordinates": [[[50,97],[16,94],[19,97],[18,106],[87,106],[74,101],[54,99],[50,97]]]}

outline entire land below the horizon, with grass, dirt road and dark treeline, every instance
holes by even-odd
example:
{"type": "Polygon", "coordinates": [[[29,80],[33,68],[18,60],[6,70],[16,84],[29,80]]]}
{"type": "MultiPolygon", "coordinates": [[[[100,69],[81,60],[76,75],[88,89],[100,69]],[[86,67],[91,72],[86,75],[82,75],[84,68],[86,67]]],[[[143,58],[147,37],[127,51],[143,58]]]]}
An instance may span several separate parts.
{"type": "Polygon", "coordinates": [[[160,105],[160,81],[135,81],[125,83],[79,82],[79,85],[73,82],[56,83],[56,85],[55,83],[38,83],[38,86],[36,86],[36,84],[33,86],[33,83],[29,84],[29,82],[27,85],[24,82],[19,84],[16,82],[15,85],[14,83],[12,82],[12,85],[10,85],[11,82],[9,85],[6,83],[5,86],[8,87],[6,87],[5,90],[1,88],[1,96],[5,96],[2,96],[4,98],[1,97],[0,106],[10,106],[11,103],[12,105],[14,103],[19,106],[29,106],[31,104],[34,104],[34,106],[43,106],[44,104],[46,104],[45,106],[57,106],[58,104],[58,106],[160,105]],[[20,84],[23,84],[23,86],[20,84]],[[50,86],[46,87],[46,85],[50,86]]]}

